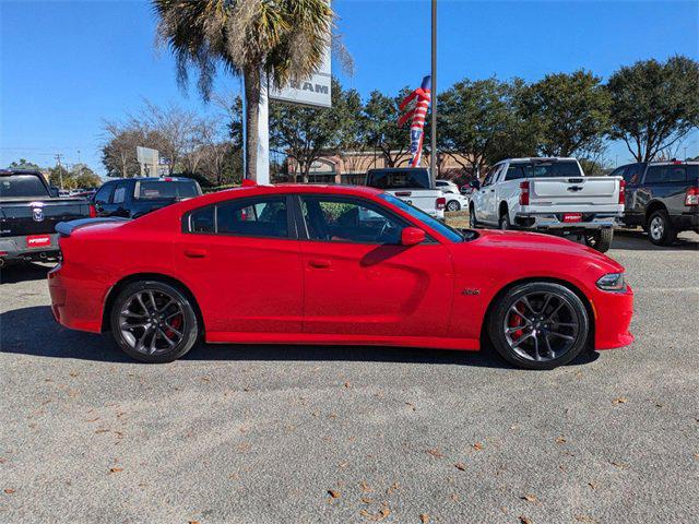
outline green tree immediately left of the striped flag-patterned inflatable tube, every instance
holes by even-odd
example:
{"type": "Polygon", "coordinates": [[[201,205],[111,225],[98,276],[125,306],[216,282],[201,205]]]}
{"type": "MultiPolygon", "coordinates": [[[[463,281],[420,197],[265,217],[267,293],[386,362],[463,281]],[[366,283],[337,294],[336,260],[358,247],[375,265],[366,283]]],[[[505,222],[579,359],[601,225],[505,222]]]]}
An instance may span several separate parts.
{"type": "Polygon", "coordinates": [[[364,107],[366,139],[371,147],[381,152],[387,167],[396,167],[410,148],[410,131],[398,124],[399,105],[410,92],[408,87],[403,87],[395,98],[391,98],[372,91],[364,107]]]}

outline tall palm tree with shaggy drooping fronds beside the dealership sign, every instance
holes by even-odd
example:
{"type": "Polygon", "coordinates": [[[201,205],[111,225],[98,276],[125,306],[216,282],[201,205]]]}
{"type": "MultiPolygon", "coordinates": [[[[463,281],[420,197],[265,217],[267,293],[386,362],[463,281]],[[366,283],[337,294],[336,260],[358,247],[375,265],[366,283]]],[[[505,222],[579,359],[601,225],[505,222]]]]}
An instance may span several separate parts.
{"type": "Polygon", "coordinates": [[[328,0],[153,0],[157,39],[174,53],[177,80],[199,73],[209,100],[217,68],[242,76],[246,99],[246,178],[256,179],[260,82],[275,87],[305,80],[321,66],[334,13],[328,0]]]}

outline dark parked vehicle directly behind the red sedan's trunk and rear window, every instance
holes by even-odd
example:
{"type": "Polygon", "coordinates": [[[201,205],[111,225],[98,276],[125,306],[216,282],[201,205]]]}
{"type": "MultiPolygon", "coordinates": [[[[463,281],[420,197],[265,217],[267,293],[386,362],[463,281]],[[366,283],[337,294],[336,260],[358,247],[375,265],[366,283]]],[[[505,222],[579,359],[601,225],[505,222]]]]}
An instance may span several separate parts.
{"type": "Polygon", "coordinates": [[[95,193],[97,216],[138,218],[152,211],[202,194],[196,180],[181,177],[110,180],[95,193]]]}

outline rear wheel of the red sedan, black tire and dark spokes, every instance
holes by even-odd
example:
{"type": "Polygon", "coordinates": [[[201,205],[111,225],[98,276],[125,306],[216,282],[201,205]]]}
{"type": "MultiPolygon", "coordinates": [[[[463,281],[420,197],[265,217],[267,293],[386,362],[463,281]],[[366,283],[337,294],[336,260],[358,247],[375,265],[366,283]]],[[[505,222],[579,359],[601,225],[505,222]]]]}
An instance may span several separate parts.
{"type": "Polygon", "coordinates": [[[190,298],[161,281],[127,285],[114,301],[109,320],[117,345],[142,362],[177,360],[199,337],[199,322],[190,298]]]}

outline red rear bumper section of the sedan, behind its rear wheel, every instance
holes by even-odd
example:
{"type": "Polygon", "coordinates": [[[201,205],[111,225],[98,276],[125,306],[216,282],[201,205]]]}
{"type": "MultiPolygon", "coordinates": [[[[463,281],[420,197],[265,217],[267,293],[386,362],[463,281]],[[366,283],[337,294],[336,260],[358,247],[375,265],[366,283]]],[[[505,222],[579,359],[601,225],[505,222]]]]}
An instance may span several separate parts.
{"type": "Polygon", "coordinates": [[[102,332],[102,313],[107,290],[96,283],[73,278],[58,264],[48,272],[51,313],[71,330],[102,332]]]}

